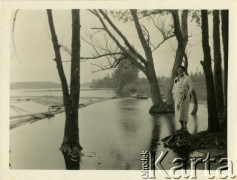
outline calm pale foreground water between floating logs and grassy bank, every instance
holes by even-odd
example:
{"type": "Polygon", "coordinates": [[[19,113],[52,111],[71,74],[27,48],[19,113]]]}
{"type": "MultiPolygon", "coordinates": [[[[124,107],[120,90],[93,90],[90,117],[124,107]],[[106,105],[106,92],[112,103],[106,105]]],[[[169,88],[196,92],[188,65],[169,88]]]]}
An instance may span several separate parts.
{"type": "MultiPolygon", "coordinates": [[[[79,110],[81,169],[141,169],[145,150],[160,151],[161,139],[180,128],[174,115],[151,116],[150,100],[112,99],[79,110]]],[[[10,131],[10,164],[13,169],[65,169],[59,150],[63,139],[64,113],[10,131]]],[[[206,130],[207,109],[200,105],[197,117],[190,115],[189,132],[206,130]]],[[[169,152],[164,163],[170,168],[169,152]]],[[[173,164],[172,164],[173,166],[173,164]]]]}

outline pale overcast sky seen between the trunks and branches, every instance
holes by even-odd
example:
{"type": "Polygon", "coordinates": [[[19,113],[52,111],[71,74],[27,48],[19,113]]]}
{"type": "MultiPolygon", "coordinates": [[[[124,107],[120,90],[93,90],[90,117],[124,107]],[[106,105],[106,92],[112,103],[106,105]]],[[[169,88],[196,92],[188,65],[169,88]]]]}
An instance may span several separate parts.
{"type": "MultiPolygon", "coordinates": [[[[14,12],[12,13],[12,15],[14,12]]],[[[70,47],[71,42],[71,12],[68,10],[53,11],[54,23],[58,40],[70,47]]],[[[114,19],[113,19],[114,20],[114,19]]],[[[169,17],[166,17],[169,24],[169,17]]],[[[189,19],[190,20],[190,19],[189,19]]],[[[114,20],[119,29],[127,36],[134,47],[143,54],[140,41],[135,31],[133,22],[124,23],[114,20]]],[[[151,22],[143,20],[141,22],[150,31],[153,42],[161,41],[161,34],[154,28],[151,22]]],[[[93,31],[91,28],[101,27],[97,18],[86,10],[81,10],[81,35],[85,37],[93,31]]],[[[201,29],[195,22],[189,21],[188,56],[189,72],[202,70],[200,60],[203,58],[201,48],[201,29]]],[[[97,36],[103,42],[103,35],[97,36]]],[[[21,10],[17,14],[14,29],[15,49],[11,47],[11,82],[21,81],[52,81],[59,82],[48,19],[45,10],[21,10]],[[15,53],[16,51],[16,53],[15,53]],[[17,56],[16,56],[17,54],[17,56]],[[18,58],[17,58],[18,57],[18,58]]],[[[211,43],[211,42],[210,42],[211,43]]],[[[172,38],[165,42],[153,57],[155,61],[156,73],[158,76],[170,76],[174,54],[176,49],[176,39],[172,38]]],[[[88,44],[82,42],[81,56],[92,56],[93,49],[88,44]]],[[[63,60],[70,60],[70,56],[62,52],[63,60]]],[[[91,65],[92,61],[81,63],[81,82],[89,82],[95,78],[101,78],[106,74],[111,74],[112,70],[92,73],[97,70],[96,66],[91,65]]],[[[102,63],[93,60],[94,63],[102,63]]],[[[64,63],[65,74],[69,78],[69,63],[64,63]]],[[[140,76],[144,76],[140,73],[140,76]]]]}

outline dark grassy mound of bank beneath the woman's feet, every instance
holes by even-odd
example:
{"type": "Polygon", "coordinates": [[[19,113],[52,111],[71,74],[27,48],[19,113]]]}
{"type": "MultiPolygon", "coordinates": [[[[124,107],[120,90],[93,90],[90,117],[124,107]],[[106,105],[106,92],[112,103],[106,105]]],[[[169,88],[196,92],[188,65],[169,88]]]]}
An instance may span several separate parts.
{"type": "MultiPolygon", "coordinates": [[[[210,153],[215,162],[222,158],[227,158],[227,133],[202,131],[196,134],[186,132],[175,132],[171,136],[162,139],[164,146],[172,149],[180,157],[205,159],[210,153]]],[[[190,164],[187,164],[190,166],[190,164]]],[[[200,163],[199,169],[205,169],[205,165],[200,163]]],[[[218,163],[212,163],[210,169],[218,168],[218,163]]]]}

